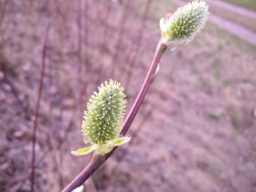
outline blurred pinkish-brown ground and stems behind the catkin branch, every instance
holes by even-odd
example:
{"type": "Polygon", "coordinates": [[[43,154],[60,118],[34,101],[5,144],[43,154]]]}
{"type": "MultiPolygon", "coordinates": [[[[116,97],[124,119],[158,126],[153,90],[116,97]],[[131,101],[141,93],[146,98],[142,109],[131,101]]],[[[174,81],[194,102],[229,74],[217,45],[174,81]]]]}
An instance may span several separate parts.
{"type": "MultiPolygon", "coordinates": [[[[256,191],[256,1],[207,2],[207,26],[165,52],[132,142],[85,191],[256,191]]],[[[129,112],[159,19],[186,3],[0,0],[0,191],[60,191],[87,165],[70,151],[91,93],[118,80],[129,112]]]]}

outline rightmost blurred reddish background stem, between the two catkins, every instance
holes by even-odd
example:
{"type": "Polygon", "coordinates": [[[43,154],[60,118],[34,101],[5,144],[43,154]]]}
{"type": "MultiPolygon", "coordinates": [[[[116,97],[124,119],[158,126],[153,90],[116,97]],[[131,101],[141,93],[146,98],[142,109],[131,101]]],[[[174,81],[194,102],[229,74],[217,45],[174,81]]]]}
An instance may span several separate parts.
{"type": "Polygon", "coordinates": [[[148,13],[149,13],[150,5],[151,5],[151,0],[147,0],[145,8],[144,8],[144,16],[143,16],[143,19],[142,19],[142,24],[141,24],[140,29],[138,30],[138,36],[134,40],[134,42],[136,42],[135,48],[133,48],[131,53],[128,54],[128,56],[131,56],[132,52],[133,52],[133,56],[132,56],[131,62],[129,64],[128,75],[127,75],[125,85],[124,85],[124,88],[127,89],[127,90],[128,90],[128,86],[130,84],[130,81],[131,81],[131,78],[132,78],[132,75],[133,75],[133,68],[134,68],[134,65],[135,65],[135,61],[136,61],[136,59],[139,55],[139,49],[141,48],[141,43],[142,43],[142,39],[143,39],[143,36],[144,36],[145,22],[146,22],[148,13]]]}

